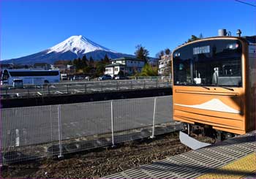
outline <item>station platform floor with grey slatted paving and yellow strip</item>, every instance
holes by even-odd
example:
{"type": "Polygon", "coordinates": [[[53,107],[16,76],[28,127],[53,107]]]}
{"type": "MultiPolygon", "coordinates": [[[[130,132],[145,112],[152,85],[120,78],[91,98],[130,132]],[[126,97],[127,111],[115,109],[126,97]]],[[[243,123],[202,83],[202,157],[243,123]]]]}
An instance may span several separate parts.
{"type": "Polygon", "coordinates": [[[246,165],[241,162],[252,162],[250,165],[252,171],[253,166],[256,166],[255,137],[256,131],[250,132],[206,148],[182,153],[162,161],[142,165],[138,169],[125,170],[104,178],[198,178],[200,176],[200,178],[206,178],[203,175],[220,171],[220,169],[222,169],[222,175],[225,174],[223,171],[230,172],[228,176],[224,175],[226,178],[229,176],[231,178],[241,177],[242,174],[249,173],[249,169],[246,170],[246,165]],[[232,173],[235,173],[236,176],[232,173]]]}

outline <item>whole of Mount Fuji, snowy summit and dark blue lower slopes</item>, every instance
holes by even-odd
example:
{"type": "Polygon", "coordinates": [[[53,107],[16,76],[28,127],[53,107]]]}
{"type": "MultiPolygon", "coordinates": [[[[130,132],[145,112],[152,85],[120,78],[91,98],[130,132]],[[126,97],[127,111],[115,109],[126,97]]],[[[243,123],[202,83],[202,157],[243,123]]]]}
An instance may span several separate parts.
{"type": "Polygon", "coordinates": [[[129,54],[117,53],[114,50],[110,50],[107,47],[103,47],[102,45],[92,42],[86,37],[78,35],[69,37],[63,42],[60,42],[47,50],[42,50],[39,53],[34,53],[29,56],[4,60],[1,61],[1,64],[34,64],[42,62],[53,64],[54,61],[73,60],[75,58],[82,58],[83,56],[86,56],[87,58],[92,57],[94,60],[98,61],[104,58],[105,55],[112,59],[134,57],[129,54]]]}

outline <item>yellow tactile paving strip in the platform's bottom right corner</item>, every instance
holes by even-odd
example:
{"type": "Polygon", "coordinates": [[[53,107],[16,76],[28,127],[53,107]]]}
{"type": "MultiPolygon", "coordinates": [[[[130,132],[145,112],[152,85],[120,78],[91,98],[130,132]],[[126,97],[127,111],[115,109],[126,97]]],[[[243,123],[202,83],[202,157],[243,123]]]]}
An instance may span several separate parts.
{"type": "MultiPolygon", "coordinates": [[[[199,178],[244,178],[256,171],[256,153],[249,154],[244,158],[233,161],[219,169],[215,169],[199,178]]],[[[198,179],[199,179],[198,178],[198,179]]]]}

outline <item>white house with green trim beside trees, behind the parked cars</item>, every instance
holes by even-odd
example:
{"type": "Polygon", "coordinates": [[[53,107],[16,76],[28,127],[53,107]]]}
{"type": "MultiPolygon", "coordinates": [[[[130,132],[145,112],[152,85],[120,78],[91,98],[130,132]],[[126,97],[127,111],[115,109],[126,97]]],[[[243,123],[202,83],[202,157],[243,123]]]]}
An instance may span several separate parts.
{"type": "Polygon", "coordinates": [[[141,72],[145,61],[138,58],[115,58],[110,60],[111,64],[105,66],[105,75],[116,76],[120,71],[124,72],[124,75],[135,75],[136,72],[141,72]]]}

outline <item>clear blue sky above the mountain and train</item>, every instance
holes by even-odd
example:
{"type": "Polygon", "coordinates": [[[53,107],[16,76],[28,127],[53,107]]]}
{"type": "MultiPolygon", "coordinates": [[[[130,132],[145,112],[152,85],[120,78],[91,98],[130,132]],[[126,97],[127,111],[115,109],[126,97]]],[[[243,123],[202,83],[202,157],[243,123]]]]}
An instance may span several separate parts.
{"type": "MultiPolygon", "coordinates": [[[[242,0],[256,5],[255,0],[242,0]]],[[[256,7],[234,0],[1,0],[1,59],[18,58],[83,35],[112,50],[133,54],[143,45],[154,57],[192,34],[256,34],[256,7]]]]}

